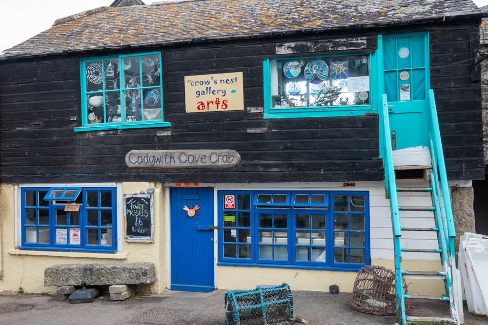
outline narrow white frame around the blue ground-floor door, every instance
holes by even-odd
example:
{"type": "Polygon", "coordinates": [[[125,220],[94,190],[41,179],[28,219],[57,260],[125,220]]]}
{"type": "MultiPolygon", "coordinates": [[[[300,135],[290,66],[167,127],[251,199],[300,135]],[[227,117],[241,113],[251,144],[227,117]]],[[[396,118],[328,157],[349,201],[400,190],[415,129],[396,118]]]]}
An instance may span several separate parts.
{"type": "MultiPolygon", "coordinates": [[[[164,183],[162,183],[164,186],[164,183]]],[[[166,287],[171,290],[171,188],[178,188],[176,186],[166,186],[164,188],[164,218],[165,218],[165,235],[166,235],[166,287]]],[[[218,226],[217,215],[217,188],[206,187],[213,189],[214,200],[214,226],[218,226]]],[[[214,230],[214,289],[217,289],[217,254],[218,254],[218,230],[214,230]]]]}

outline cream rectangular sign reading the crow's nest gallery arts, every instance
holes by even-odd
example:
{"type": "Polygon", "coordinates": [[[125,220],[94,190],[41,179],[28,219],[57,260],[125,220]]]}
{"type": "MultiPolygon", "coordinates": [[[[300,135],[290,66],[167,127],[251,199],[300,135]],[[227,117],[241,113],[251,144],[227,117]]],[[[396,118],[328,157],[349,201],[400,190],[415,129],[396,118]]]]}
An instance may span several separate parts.
{"type": "Polygon", "coordinates": [[[244,110],[243,73],[184,77],[186,113],[244,110]]]}

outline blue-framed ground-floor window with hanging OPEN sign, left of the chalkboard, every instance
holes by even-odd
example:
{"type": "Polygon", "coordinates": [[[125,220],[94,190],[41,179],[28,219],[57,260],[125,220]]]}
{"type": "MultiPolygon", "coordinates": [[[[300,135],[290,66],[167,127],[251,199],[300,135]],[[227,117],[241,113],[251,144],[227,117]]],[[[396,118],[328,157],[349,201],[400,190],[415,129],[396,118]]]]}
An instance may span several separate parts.
{"type": "MultiPolygon", "coordinates": [[[[69,189],[69,188],[68,188],[69,189]]],[[[63,189],[63,191],[66,189],[63,189]]],[[[50,188],[21,189],[20,249],[115,252],[115,188],[82,188],[78,211],[46,200],[50,188]]]]}

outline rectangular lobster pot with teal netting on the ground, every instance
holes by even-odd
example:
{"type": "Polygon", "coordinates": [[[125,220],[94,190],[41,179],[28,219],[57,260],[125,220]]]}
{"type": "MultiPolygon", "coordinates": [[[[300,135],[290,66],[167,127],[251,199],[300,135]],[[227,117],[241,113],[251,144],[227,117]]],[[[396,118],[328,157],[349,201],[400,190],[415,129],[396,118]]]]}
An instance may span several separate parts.
{"type": "Polygon", "coordinates": [[[292,324],[293,297],[290,286],[225,293],[225,323],[227,325],[292,324]]]}

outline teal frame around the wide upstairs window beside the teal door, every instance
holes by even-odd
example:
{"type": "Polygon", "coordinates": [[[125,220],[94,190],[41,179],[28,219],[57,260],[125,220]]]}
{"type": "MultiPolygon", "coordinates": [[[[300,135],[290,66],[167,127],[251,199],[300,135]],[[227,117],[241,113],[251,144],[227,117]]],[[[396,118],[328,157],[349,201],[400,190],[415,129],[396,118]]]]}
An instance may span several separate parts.
{"type": "Polygon", "coordinates": [[[334,57],[331,56],[303,56],[303,57],[272,57],[263,60],[263,82],[264,82],[264,118],[300,118],[300,117],[328,117],[328,116],[357,116],[368,113],[378,113],[378,74],[376,71],[376,53],[354,53],[350,55],[366,55],[369,58],[369,104],[347,105],[347,106],[308,106],[297,108],[272,108],[271,107],[271,60],[288,60],[298,58],[334,57]]]}

